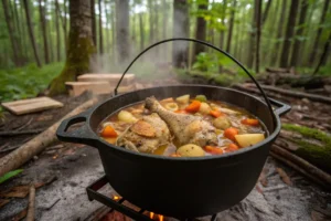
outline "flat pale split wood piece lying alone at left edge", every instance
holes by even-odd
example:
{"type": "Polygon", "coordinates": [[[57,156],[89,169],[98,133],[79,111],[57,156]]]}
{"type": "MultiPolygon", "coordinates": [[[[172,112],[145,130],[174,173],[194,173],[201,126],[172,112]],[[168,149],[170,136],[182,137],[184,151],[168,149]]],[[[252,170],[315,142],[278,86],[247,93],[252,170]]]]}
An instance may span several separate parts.
{"type": "Polygon", "coordinates": [[[50,97],[36,97],[2,103],[2,106],[15,115],[23,115],[51,108],[63,107],[63,104],[50,97]]]}

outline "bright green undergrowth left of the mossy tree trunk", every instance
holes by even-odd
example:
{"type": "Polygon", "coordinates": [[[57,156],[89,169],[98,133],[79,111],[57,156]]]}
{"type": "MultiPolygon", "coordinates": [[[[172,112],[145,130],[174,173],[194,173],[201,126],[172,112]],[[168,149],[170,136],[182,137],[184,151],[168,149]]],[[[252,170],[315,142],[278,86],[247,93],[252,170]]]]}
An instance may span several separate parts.
{"type": "Polygon", "coordinates": [[[38,69],[35,64],[0,71],[0,101],[34,97],[45,90],[52,78],[63,69],[63,63],[53,63],[38,69]]]}

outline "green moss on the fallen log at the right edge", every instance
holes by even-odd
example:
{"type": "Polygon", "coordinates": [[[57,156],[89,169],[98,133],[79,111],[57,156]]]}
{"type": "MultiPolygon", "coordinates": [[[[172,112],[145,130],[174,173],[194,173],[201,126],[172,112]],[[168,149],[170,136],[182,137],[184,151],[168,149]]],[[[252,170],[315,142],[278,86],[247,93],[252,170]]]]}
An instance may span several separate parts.
{"type": "Polygon", "coordinates": [[[291,140],[300,146],[296,154],[318,167],[331,172],[331,136],[313,128],[298,126],[293,124],[284,124],[285,130],[298,133],[303,136],[301,138],[291,138],[291,140]],[[309,140],[314,139],[322,146],[313,144],[309,140]]]}

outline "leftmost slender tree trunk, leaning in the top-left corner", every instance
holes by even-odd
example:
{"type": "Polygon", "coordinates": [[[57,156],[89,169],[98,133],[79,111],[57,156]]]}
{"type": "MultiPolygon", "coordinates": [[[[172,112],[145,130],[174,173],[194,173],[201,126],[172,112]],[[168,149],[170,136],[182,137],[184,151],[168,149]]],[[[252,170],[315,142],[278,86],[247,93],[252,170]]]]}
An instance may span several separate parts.
{"type": "Polygon", "coordinates": [[[11,46],[12,46],[13,62],[17,66],[20,66],[20,59],[19,59],[19,54],[18,54],[19,53],[19,44],[14,36],[14,30],[13,30],[13,23],[12,23],[13,20],[10,17],[10,10],[8,8],[7,0],[2,0],[2,8],[3,8],[3,12],[4,12],[4,18],[6,18],[6,23],[7,23],[7,28],[8,28],[8,33],[10,36],[11,46]]]}

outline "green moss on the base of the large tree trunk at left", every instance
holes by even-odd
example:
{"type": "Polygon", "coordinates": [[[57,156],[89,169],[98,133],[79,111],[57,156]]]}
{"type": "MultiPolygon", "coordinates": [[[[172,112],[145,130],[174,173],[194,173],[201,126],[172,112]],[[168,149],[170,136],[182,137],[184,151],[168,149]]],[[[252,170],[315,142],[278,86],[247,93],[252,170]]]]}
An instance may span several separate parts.
{"type": "Polygon", "coordinates": [[[89,59],[96,51],[90,36],[73,30],[70,33],[68,44],[65,66],[61,74],[51,82],[49,92],[51,96],[64,94],[66,92],[65,82],[75,81],[78,75],[89,71],[89,59]]]}

